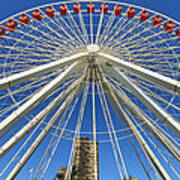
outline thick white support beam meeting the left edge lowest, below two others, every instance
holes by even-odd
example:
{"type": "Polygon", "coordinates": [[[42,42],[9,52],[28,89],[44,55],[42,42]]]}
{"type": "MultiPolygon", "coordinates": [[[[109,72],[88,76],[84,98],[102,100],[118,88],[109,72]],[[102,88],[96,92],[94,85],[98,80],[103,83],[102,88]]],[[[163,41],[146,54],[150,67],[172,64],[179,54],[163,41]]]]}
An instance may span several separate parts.
{"type": "Polygon", "coordinates": [[[11,139],[9,139],[3,146],[0,147],[0,158],[4,156],[14,145],[16,145],[26,134],[29,133],[38,123],[46,117],[58,104],[60,104],[74,88],[79,84],[77,80],[71,84],[67,90],[63,91],[57,98],[55,98],[45,109],[39,112],[28,124],[19,130],[11,139]]]}

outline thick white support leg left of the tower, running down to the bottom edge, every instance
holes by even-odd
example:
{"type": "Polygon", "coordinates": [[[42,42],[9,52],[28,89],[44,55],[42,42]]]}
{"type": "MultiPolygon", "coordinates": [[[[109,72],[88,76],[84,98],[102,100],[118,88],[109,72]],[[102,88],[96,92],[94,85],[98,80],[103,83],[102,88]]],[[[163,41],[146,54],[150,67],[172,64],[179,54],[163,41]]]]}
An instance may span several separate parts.
{"type": "Polygon", "coordinates": [[[29,147],[29,149],[26,151],[26,153],[23,155],[23,157],[20,159],[20,161],[17,163],[17,165],[13,168],[13,170],[10,172],[6,180],[12,180],[16,177],[16,175],[19,173],[19,171],[23,168],[25,163],[28,161],[28,159],[31,157],[31,155],[34,153],[34,151],[37,149],[37,147],[41,144],[43,139],[46,137],[48,132],[51,130],[53,125],[57,122],[61,114],[64,112],[64,110],[67,108],[71,100],[73,99],[73,96],[70,95],[66,101],[61,105],[61,107],[57,110],[57,112],[54,114],[54,116],[50,119],[46,127],[41,131],[39,136],[36,138],[34,143],[29,147]]]}

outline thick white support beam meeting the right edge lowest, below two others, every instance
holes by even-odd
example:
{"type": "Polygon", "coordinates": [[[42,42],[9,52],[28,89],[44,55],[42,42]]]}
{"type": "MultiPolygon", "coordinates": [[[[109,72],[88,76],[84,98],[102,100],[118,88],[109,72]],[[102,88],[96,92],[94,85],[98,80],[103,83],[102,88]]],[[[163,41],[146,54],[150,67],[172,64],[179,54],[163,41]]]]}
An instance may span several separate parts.
{"type": "MultiPolygon", "coordinates": [[[[143,112],[131,101],[131,99],[123,92],[118,91],[116,87],[108,83],[116,94],[118,101],[124,105],[141,123],[146,127],[152,135],[164,146],[166,149],[178,160],[180,161],[180,151],[174,144],[169,141],[169,139],[157,129],[144,115],[143,112]]],[[[113,103],[113,101],[111,101],[113,103]]]]}

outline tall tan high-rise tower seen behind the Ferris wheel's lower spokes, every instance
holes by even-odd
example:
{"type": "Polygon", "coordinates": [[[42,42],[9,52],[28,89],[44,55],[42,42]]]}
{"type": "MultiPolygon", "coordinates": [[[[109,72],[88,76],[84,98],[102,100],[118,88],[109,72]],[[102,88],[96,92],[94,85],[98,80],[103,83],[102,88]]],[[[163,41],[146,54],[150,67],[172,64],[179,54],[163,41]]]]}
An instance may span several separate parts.
{"type": "Polygon", "coordinates": [[[99,180],[98,142],[87,137],[76,137],[71,179],[99,180]]]}

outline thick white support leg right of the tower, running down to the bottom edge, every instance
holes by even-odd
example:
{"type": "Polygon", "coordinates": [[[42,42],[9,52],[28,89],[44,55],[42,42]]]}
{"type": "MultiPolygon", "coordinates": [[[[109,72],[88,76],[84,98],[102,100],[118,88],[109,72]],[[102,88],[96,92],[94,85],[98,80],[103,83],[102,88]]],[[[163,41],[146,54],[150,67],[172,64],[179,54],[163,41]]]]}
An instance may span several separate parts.
{"type": "MultiPolygon", "coordinates": [[[[104,84],[108,85],[107,80],[105,80],[105,78],[103,78],[103,79],[104,79],[104,84]]],[[[165,169],[163,168],[161,163],[158,161],[158,159],[156,158],[153,151],[150,149],[150,147],[148,146],[148,144],[146,143],[144,138],[139,133],[136,126],[132,123],[131,119],[125,113],[125,111],[123,110],[121,105],[118,103],[118,99],[116,98],[115,94],[113,94],[112,91],[111,91],[111,93],[107,93],[110,91],[106,91],[106,90],[107,89],[104,89],[104,92],[106,92],[107,97],[109,98],[110,102],[114,105],[114,107],[117,109],[120,116],[123,118],[123,120],[125,121],[127,126],[130,128],[131,132],[133,133],[133,135],[137,139],[139,145],[141,146],[141,148],[143,149],[143,151],[147,155],[150,162],[156,167],[156,169],[161,174],[163,179],[170,180],[171,178],[169,177],[169,175],[167,174],[167,172],[165,171],[165,169]]]]}

